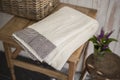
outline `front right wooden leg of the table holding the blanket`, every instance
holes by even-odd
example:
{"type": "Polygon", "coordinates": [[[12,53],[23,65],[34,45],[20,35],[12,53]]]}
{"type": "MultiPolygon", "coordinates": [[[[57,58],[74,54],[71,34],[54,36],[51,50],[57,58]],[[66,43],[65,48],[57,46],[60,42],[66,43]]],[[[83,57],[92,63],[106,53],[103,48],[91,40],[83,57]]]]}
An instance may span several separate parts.
{"type": "Polygon", "coordinates": [[[75,70],[76,70],[76,63],[70,62],[69,70],[68,70],[68,80],[74,80],[75,70]]]}

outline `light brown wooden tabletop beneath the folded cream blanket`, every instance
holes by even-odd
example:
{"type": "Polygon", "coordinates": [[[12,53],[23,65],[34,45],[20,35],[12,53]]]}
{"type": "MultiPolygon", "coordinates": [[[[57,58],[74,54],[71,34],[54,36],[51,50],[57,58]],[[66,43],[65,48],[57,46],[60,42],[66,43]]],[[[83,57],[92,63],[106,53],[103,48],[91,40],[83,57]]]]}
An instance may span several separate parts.
{"type": "MultiPolygon", "coordinates": [[[[84,8],[84,7],[79,7],[79,6],[75,6],[75,5],[70,5],[70,4],[65,4],[65,3],[60,3],[59,6],[57,6],[55,8],[55,11],[57,11],[58,9],[60,9],[63,6],[69,6],[72,7],[76,10],[79,10],[83,13],[85,13],[86,15],[95,18],[96,16],[96,10],[94,9],[89,9],[89,8],[84,8]]],[[[29,19],[25,19],[25,18],[21,18],[21,17],[17,17],[14,16],[7,24],[4,25],[4,27],[2,27],[0,29],[0,40],[2,40],[3,42],[9,43],[11,44],[11,46],[15,46],[15,47],[20,47],[11,37],[12,33],[18,30],[22,30],[25,27],[35,23],[36,21],[33,20],[29,20],[29,19]]],[[[80,47],[80,49],[76,50],[82,50],[83,47],[80,47]]],[[[68,61],[75,61],[76,59],[78,59],[78,54],[77,52],[74,53],[74,55],[72,55],[72,57],[69,58],[68,61]]]]}

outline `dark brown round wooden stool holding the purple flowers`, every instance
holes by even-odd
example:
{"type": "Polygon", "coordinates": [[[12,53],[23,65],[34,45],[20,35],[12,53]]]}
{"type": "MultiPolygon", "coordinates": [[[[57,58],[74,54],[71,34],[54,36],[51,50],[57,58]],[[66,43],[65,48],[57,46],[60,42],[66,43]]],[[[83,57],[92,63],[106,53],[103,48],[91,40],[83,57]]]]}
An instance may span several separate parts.
{"type": "Polygon", "coordinates": [[[86,69],[93,80],[120,80],[120,57],[115,53],[99,57],[91,54],[86,60],[86,69]]]}

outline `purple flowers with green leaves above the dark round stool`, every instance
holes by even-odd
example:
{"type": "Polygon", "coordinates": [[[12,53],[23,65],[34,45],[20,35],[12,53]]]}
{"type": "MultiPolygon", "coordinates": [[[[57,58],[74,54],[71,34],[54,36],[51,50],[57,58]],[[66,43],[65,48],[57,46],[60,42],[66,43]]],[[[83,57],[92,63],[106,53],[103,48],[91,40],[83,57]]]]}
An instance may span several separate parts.
{"type": "Polygon", "coordinates": [[[109,48],[109,44],[112,41],[117,41],[114,38],[109,38],[112,33],[113,31],[110,31],[109,33],[105,33],[105,31],[102,28],[100,34],[97,37],[93,36],[91,39],[89,39],[94,44],[95,52],[97,52],[98,54],[104,51],[111,52],[109,48]]]}

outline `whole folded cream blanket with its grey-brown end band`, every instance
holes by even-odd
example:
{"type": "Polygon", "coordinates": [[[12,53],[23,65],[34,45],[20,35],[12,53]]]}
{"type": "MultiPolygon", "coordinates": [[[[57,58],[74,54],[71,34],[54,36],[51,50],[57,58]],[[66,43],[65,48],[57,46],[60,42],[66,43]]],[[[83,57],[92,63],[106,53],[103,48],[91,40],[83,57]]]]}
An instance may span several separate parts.
{"type": "Polygon", "coordinates": [[[69,7],[15,32],[13,37],[39,61],[61,70],[71,54],[92,37],[98,22],[69,7]]]}

